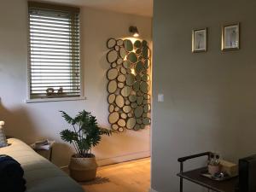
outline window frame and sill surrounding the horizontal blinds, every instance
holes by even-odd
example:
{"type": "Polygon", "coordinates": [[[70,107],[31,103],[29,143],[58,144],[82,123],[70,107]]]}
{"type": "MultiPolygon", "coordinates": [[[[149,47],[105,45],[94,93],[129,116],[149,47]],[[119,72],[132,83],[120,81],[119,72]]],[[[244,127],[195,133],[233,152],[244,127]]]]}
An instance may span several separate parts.
{"type": "MultiPolygon", "coordinates": [[[[32,62],[31,62],[31,42],[30,42],[30,13],[29,9],[30,8],[35,8],[35,9],[49,9],[49,10],[56,10],[56,11],[73,11],[73,12],[79,12],[79,8],[76,7],[70,7],[70,6],[63,6],[63,5],[58,5],[58,4],[52,4],[52,3],[38,3],[38,2],[30,2],[28,1],[27,4],[27,25],[26,25],[26,30],[27,30],[27,84],[26,84],[26,103],[32,103],[32,102],[61,102],[61,101],[77,101],[77,100],[85,100],[86,97],[84,96],[84,83],[83,83],[83,65],[82,65],[82,59],[81,59],[81,27],[79,27],[79,96],[49,96],[49,97],[38,97],[38,98],[32,98],[31,95],[31,75],[32,75],[32,62]]],[[[81,20],[80,20],[80,12],[79,12],[79,26],[81,26],[81,20]]]]}

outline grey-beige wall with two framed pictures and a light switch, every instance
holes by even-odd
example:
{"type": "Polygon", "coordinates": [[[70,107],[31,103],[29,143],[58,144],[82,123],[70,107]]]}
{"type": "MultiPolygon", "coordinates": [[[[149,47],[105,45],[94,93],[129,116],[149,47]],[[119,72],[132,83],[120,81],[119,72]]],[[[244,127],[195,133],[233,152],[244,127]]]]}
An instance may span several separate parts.
{"type": "MultiPolygon", "coordinates": [[[[256,153],[256,2],[154,1],[152,188],[178,191],[177,158],[213,150],[227,160],[256,153]],[[241,21],[241,50],[220,50],[221,26],[241,21]],[[191,31],[208,27],[208,52],[191,31]],[[165,102],[157,102],[163,93],[165,102]]],[[[194,163],[193,163],[194,164],[194,163]]],[[[186,169],[192,164],[187,164],[186,169]]],[[[184,192],[198,192],[185,184],[184,192]]]]}

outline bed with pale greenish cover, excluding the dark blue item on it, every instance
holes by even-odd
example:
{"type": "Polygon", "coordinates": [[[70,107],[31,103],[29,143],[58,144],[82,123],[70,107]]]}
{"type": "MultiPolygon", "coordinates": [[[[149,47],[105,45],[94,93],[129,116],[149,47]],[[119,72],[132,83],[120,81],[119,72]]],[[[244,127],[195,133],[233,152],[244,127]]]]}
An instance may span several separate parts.
{"type": "Polygon", "coordinates": [[[84,192],[79,183],[26,143],[16,138],[9,138],[8,143],[8,147],[0,148],[0,154],[8,154],[20,163],[25,172],[26,192],[84,192]]]}

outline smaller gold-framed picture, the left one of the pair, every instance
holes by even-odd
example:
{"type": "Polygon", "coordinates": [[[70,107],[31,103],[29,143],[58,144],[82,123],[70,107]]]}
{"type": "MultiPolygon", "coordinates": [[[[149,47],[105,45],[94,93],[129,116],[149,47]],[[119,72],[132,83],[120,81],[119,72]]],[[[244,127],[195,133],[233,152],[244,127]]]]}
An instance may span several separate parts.
{"type": "Polygon", "coordinates": [[[207,51],[207,28],[192,31],[192,52],[207,51]]]}

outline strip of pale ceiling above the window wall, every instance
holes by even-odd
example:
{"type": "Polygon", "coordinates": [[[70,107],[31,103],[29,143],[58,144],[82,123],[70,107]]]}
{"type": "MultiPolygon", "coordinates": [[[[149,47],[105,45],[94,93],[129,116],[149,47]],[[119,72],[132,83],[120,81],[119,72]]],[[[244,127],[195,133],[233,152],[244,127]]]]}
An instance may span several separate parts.
{"type": "Polygon", "coordinates": [[[125,14],[153,16],[153,0],[41,0],[41,2],[65,3],[125,14]]]}

